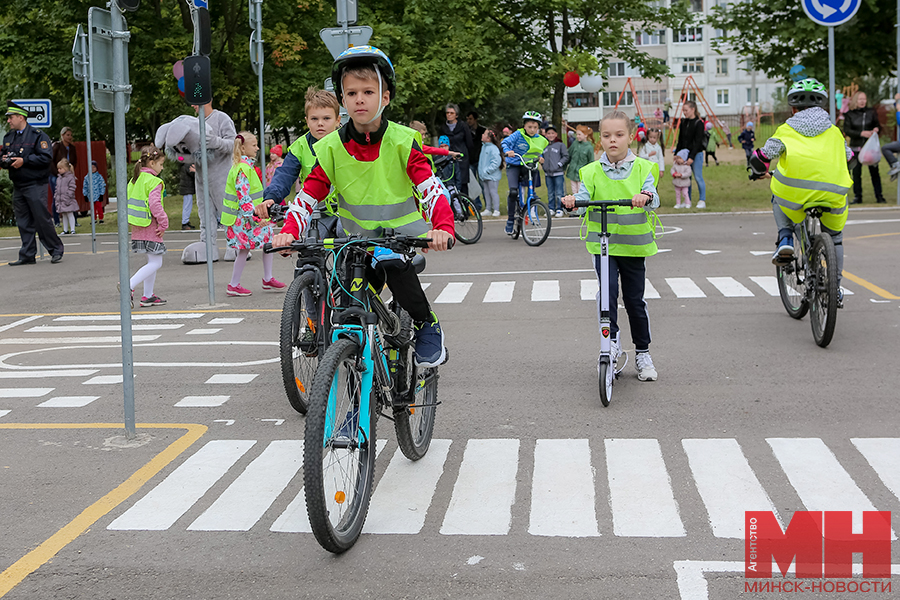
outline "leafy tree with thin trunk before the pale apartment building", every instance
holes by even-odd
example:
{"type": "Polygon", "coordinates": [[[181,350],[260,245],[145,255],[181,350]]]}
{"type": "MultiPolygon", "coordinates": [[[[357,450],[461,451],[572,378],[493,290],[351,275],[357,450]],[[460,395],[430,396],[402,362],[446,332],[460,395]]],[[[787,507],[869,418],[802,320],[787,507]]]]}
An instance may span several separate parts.
{"type": "MultiPolygon", "coordinates": [[[[552,89],[552,122],[559,127],[566,71],[605,72],[610,59],[628,62],[644,77],[669,75],[663,59],[635,45],[635,33],[678,29],[690,19],[687,5],[661,8],[646,0],[479,0],[486,19],[516,40],[522,71],[537,85],[552,89]]],[[[522,75],[520,75],[522,77],[522,75]]]]}

